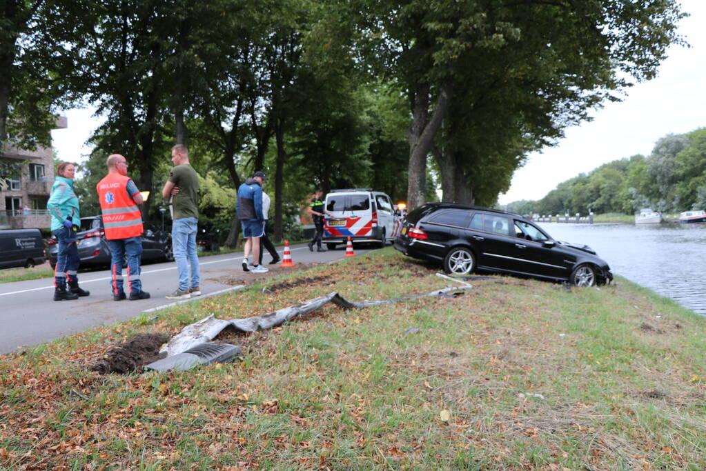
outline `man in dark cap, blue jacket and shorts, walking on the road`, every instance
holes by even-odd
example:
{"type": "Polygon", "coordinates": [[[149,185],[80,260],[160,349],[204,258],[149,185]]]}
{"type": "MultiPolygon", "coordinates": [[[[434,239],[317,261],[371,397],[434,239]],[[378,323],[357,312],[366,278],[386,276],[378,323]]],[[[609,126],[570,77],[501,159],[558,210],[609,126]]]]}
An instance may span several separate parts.
{"type": "Polygon", "coordinates": [[[238,198],[235,203],[235,212],[240,219],[243,228],[243,237],[246,239],[243,269],[253,273],[265,273],[269,271],[258,264],[260,258],[260,238],[263,236],[263,188],[267,177],[265,173],[256,171],[253,178],[248,178],[245,183],[238,188],[238,198]],[[253,253],[253,264],[248,257],[253,253]]]}

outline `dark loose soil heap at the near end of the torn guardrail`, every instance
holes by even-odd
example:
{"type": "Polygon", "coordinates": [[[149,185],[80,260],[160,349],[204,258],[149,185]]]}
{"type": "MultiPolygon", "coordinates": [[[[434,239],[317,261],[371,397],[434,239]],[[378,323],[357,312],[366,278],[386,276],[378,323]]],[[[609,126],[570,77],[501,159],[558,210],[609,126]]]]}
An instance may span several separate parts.
{"type": "Polygon", "coordinates": [[[163,358],[160,346],[169,341],[167,334],[138,334],[125,343],[108,350],[105,357],[90,367],[100,374],[128,374],[142,371],[145,365],[163,358]]]}

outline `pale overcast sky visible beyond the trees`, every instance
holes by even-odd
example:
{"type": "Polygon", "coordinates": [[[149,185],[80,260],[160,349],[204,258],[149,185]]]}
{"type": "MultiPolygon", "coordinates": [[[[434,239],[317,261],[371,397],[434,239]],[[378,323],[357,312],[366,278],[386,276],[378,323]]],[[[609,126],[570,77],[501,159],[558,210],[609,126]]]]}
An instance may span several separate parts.
{"type": "MultiPolygon", "coordinates": [[[[623,102],[594,111],[594,121],[568,128],[556,147],[530,154],[527,164],[515,172],[510,190],[500,195],[501,204],[539,200],[579,173],[634,154],[650,154],[664,135],[706,126],[706,1],[681,4],[691,16],[681,21],[679,33],[691,47],[672,47],[657,78],[632,87],[623,102]]],[[[101,123],[92,112],[64,113],[68,128],[52,131],[59,159],[82,161],[88,155],[85,141],[101,123]]]]}

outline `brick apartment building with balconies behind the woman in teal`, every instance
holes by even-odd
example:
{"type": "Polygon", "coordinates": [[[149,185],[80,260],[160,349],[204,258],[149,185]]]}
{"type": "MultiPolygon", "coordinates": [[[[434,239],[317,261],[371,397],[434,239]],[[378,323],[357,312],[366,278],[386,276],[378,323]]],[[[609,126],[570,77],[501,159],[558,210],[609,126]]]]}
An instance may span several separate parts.
{"type": "MultiPolygon", "coordinates": [[[[66,118],[56,120],[56,129],[66,128],[66,118]]],[[[1,157],[25,161],[20,175],[0,182],[0,229],[49,228],[47,201],[54,184],[52,147],[33,151],[11,145],[1,157]]]]}

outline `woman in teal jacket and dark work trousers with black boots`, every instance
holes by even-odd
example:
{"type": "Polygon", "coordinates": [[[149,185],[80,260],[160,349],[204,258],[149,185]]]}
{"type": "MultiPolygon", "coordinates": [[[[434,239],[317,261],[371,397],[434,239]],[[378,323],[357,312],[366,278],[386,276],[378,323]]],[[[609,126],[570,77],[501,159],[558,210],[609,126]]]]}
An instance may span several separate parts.
{"type": "Polygon", "coordinates": [[[76,166],[70,162],[61,162],[56,169],[58,176],[52,186],[52,195],[47,202],[47,209],[52,216],[52,233],[56,236],[59,251],[56,253],[54,270],[54,301],[78,299],[90,293],[78,287],[78,247],[74,225],[80,226],[81,215],[78,212],[78,197],[73,192],[73,176],[76,166]],[[68,290],[66,280],[68,277],[68,290]]]}

